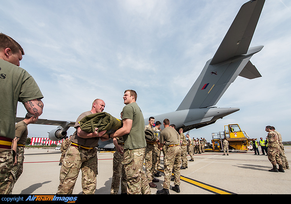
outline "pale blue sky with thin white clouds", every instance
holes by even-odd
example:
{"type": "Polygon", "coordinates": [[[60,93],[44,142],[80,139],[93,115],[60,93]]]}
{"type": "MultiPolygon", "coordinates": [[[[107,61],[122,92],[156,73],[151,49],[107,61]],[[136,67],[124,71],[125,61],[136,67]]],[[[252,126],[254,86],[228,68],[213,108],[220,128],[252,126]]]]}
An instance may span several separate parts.
{"type": "MultiPolygon", "coordinates": [[[[9,0],[1,2],[0,32],[25,51],[20,67],[44,95],[40,118],[75,121],[97,98],[119,118],[127,89],[149,118],[178,108],[246,1],[9,0]]],[[[264,138],[272,125],[291,141],[290,0],[266,0],[250,47],[259,45],[251,62],[262,77],[238,77],[215,105],[240,111],[191,137],[210,142],[211,133],[237,123],[251,138],[264,138]]],[[[25,114],[18,102],[17,117],[25,114]]],[[[29,137],[56,127],[31,124],[29,137]]]]}

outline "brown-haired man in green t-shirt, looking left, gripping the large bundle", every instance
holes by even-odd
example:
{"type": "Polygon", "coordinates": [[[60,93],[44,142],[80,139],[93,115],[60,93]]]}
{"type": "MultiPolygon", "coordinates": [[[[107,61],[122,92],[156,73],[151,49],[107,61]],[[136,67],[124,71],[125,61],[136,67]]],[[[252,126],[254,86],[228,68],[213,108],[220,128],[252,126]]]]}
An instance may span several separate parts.
{"type": "Polygon", "coordinates": [[[143,164],[146,152],[145,121],[140,107],[136,103],[134,90],[126,90],[123,100],[122,128],[108,135],[111,138],[123,136],[123,162],[127,176],[128,194],[150,194],[143,164]]]}

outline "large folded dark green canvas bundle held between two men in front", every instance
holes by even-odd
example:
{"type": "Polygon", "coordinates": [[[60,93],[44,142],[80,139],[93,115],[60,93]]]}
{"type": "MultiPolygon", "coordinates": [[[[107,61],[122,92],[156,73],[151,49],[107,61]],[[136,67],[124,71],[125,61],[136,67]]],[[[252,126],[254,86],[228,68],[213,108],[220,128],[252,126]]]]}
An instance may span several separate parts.
{"type": "Polygon", "coordinates": [[[79,121],[79,124],[81,130],[87,133],[93,133],[95,128],[98,128],[97,132],[107,130],[105,134],[111,134],[122,127],[120,119],[116,119],[106,112],[85,116],[79,121]]]}

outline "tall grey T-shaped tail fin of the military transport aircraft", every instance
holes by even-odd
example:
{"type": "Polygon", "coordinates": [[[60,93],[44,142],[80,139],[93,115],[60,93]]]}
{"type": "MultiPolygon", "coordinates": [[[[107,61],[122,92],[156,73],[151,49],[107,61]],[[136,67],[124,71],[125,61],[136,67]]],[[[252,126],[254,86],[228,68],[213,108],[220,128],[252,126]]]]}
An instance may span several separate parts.
{"type": "Polygon", "coordinates": [[[249,60],[263,46],[249,48],[249,45],[264,2],[251,0],[242,5],[214,57],[206,63],[176,111],[213,106],[237,76],[248,79],[261,76],[249,60]]]}

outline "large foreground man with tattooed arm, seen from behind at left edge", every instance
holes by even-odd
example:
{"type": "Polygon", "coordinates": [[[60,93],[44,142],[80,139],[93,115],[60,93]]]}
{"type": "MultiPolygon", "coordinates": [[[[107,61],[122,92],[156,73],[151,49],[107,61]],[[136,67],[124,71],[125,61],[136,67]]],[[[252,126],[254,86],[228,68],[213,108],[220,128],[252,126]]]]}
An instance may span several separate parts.
{"type": "Polygon", "coordinates": [[[12,142],[15,137],[17,102],[28,113],[39,117],[43,113],[43,95],[20,60],[22,47],[10,36],[0,33],[0,194],[11,194],[14,187],[12,142]]]}

